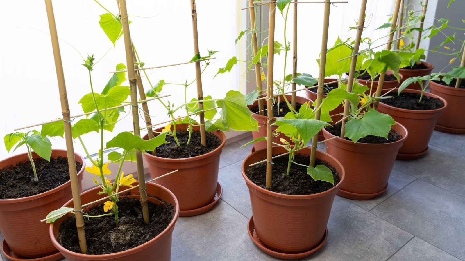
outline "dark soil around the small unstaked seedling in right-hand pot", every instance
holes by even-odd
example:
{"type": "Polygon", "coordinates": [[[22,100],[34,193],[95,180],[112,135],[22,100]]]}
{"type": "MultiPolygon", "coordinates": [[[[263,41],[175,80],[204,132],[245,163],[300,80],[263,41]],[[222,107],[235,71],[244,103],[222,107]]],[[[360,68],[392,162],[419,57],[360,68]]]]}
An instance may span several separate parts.
{"type": "Polygon", "coordinates": [[[429,111],[444,107],[444,102],[441,99],[425,95],[423,95],[419,103],[418,101],[420,100],[421,94],[417,92],[401,92],[400,96],[393,92],[389,95],[392,96],[392,98],[381,99],[380,101],[399,109],[429,111]]]}

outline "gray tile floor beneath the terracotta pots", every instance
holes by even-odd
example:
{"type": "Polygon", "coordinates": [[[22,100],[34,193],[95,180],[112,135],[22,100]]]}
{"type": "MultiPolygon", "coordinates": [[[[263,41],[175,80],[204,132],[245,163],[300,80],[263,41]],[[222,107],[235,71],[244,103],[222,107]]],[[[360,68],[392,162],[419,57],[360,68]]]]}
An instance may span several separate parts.
{"type": "MultiPolygon", "coordinates": [[[[223,149],[219,203],[203,215],[179,217],[173,261],[278,260],[261,252],[247,234],[252,210],[240,166],[250,146],[240,145],[250,140],[223,149]]],[[[434,131],[424,157],[396,161],[383,194],[367,201],[336,196],[326,244],[303,260],[465,260],[464,187],[465,135],[434,131]]]]}

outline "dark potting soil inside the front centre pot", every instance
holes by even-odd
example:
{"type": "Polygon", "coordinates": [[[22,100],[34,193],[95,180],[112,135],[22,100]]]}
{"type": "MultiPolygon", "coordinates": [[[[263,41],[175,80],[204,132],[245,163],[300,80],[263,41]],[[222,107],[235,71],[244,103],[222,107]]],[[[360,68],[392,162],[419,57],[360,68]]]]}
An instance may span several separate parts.
{"type": "MultiPolygon", "coordinates": [[[[260,161],[264,159],[266,158],[260,159],[260,161]]],[[[314,181],[312,177],[307,174],[307,167],[294,163],[291,164],[289,176],[286,176],[288,160],[288,156],[273,159],[272,186],[268,190],[287,195],[311,195],[331,189],[340,181],[339,173],[336,171],[334,166],[327,161],[320,159],[316,159],[315,165],[325,165],[332,170],[334,185],[326,181],[314,181]]],[[[310,162],[310,155],[297,154],[293,161],[299,164],[308,165],[310,162]]],[[[267,189],[266,162],[253,165],[247,170],[246,175],[253,183],[267,189]]]]}

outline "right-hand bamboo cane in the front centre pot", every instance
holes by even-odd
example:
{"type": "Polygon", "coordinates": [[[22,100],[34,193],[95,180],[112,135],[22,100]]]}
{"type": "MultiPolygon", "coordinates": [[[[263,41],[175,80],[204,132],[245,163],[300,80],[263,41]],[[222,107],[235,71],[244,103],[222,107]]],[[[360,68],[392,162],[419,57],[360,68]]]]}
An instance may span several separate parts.
{"type": "MultiPolygon", "coordinates": [[[[318,89],[317,89],[317,104],[315,108],[321,105],[323,100],[323,85],[325,84],[325,69],[326,69],[326,50],[328,48],[328,29],[329,29],[329,11],[331,8],[330,2],[325,2],[325,15],[323,18],[323,37],[321,39],[321,55],[320,55],[320,68],[318,76],[318,89]]],[[[321,110],[316,111],[315,119],[319,120],[321,110]]],[[[315,167],[316,153],[317,153],[318,134],[312,138],[312,151],[310,152],[309,166],[315,167]]]]}

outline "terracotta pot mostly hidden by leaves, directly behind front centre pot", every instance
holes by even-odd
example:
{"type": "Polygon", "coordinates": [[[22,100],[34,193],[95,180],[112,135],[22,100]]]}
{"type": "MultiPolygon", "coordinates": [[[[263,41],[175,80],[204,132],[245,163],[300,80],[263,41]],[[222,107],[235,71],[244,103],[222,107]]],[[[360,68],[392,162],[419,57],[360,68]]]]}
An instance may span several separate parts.
{"type": "MultiPolygon", "coordinates": [[[[282,95],[279,98],[280,98],[280,100],[284,100],[284,97],[282,95]]],[[[292,95],[291,94],[286,94],[286,98],[289,101],[289,103],[291,103],[292,95]]],[[[276,97],[275,99],[278,100],[278,97],[276,97]]],[[[304,104],[304,103],[306,103],[308,101],[313,103],[312,100],[310,100],[308,98],[305,98],[305,97],[300,97],[300,96],[296,96],[295,101],[300,103],[300,104],[304,104]]],[[[254,102],[252,105],[248,105],[248,107],[250,109],[250,108],[252,108],[253,106],[255,106],[257,104],[258,104],[258,101],[254,102]]],[[[256,138],[259,138],[259,137],[266,137],[266,116],[260,115],[259,113],[253,113],[252,112],[252,117],[254,119],[256,119],[258,121],[258,124],[259,124],[259,131],[252,131],[253,139],[256,139],[256,138]]],[[[284,115],[283,115],[283,117],[284,117],[284,115]]],[[[277,129],[278,129],[278,126],[273,125],[273,133],[276,133],[276,137],[273,137],[273,142],[280,144],[281,142],[279,141],[279,139],[284,138],[289,143],[294,144],[291,141],[291,138],[287,137],[286,135],[282,134],[281,132],[276,132],[277,129]]],[[[266,148],[266,141],[262,140],[262,141],[256,142],[256,143],[253,144],[253,147],[255,147],[255,150],[261,150],[263,148],[266,148]]]]}

